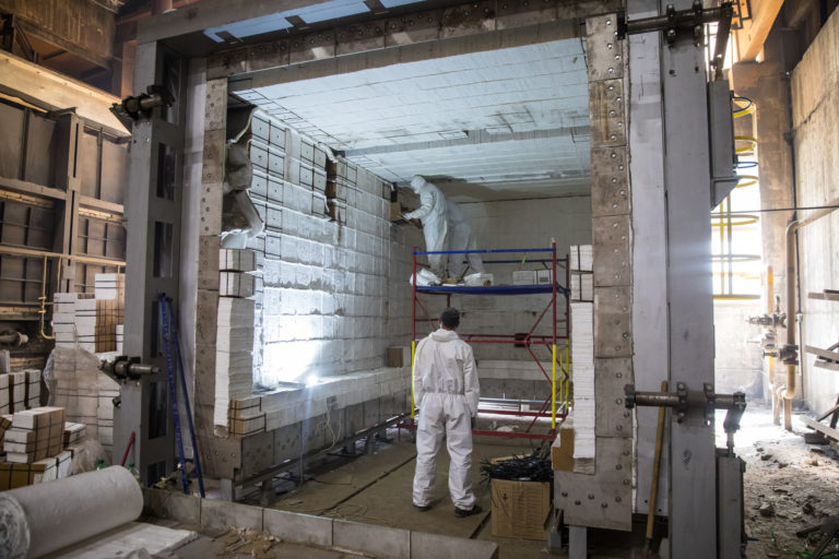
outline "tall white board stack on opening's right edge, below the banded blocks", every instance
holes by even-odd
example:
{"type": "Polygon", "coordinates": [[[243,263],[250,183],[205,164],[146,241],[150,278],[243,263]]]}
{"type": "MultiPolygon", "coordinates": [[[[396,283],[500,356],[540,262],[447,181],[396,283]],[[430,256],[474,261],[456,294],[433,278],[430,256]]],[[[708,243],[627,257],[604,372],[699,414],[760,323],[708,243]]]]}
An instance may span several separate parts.
{"type": "Polygon", "coordinates": [[[594,305],[571,302],[574,471],[594,474],[594,305]]]}

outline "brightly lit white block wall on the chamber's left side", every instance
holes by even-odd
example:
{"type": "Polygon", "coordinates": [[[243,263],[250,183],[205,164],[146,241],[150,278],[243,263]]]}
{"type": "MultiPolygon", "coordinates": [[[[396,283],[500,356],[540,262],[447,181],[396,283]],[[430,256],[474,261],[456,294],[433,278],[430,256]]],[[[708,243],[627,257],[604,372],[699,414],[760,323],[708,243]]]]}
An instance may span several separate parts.
{"type": "Polygon", "coordinates": [[[413,227],[389,221],[390,186],[262,112],[252,119],[257,251],[255,381],[305,381],[386,365],[411,334],[413,227]]]}

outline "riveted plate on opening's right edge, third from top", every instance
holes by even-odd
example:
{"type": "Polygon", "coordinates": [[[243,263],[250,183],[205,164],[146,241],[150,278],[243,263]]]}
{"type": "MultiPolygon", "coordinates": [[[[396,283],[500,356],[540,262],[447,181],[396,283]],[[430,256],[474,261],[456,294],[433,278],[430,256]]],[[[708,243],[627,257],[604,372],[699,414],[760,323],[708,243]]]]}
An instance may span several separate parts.
{"type": "Polygon", "coordinates": [[[592,215],[621,215],[631,209],[627,178],[626,147],[600,147],[591,151],[592,215]]]}

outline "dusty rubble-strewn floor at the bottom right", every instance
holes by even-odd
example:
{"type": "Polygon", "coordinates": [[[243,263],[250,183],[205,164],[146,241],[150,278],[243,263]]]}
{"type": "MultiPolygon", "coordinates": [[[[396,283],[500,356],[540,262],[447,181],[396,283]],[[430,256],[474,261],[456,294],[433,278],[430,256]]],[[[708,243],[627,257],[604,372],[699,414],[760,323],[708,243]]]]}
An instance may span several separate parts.
{"type": "Polygon", "coordinates": [[[839,514],[839,456],[827,444],[805,443],[802,433],[810,429],[797,417],[793,432],[771,419],[768,405],[749,402],[735,439],[746,462],[746,556],[808,557],[813,544],[795,532],[839,514]]]}

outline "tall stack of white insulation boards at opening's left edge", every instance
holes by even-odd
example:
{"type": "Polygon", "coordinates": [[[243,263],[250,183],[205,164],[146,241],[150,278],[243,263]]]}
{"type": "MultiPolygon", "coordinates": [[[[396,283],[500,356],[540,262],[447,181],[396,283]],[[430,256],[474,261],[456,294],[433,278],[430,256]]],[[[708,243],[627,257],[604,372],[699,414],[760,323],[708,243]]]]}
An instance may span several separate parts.
{"type": "Polygon", "coordinates": [[[253,276],[247,272],[256,269],[256,253],[248,249],[221,249],[218,267],[221,285],[215,341],[213,417],[214,424],[224,426],[231,435],[246,436],[264,430],[264,414],[261,414],[260,418],[258,411],[231,409],[231,402],[248,396],[253,384],[255,302],[245,297],[253,294],[253,276]],[[229,282],[232,277],[239,278],[238,287],[224,288],[225,281],[229,282]],[[249,278],[251,282],[249,289],[240,289],[241,278],[249,278]]]}

